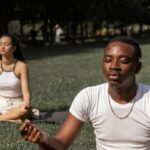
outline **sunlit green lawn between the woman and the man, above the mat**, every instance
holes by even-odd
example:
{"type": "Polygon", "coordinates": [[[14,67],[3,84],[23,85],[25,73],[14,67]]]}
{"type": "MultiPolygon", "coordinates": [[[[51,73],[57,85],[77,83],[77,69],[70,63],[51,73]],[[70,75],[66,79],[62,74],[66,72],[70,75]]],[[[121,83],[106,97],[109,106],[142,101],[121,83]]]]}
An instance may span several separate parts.
{"type": "Polygon", "coordinates": [[[68,108],[80,89],[101,81],[99,58],[100,50],[94,49],[29,61],[35,107],[42,101],[40,109],[68,108]]]}

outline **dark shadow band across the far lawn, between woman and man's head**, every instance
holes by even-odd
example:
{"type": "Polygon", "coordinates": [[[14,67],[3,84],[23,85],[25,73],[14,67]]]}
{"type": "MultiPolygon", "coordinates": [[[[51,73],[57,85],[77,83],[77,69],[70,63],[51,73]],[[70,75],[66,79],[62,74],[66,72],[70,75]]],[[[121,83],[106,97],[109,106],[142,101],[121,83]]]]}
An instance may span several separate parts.
{"type": "Polygon", "coordinates": [[[104,48],[106,42],[89,42],[85,44],[59,44],[51,46],[27,46],[22,48],[26,60],[42,59],[58,55],[91,52],[96,48],[104,48]]]}

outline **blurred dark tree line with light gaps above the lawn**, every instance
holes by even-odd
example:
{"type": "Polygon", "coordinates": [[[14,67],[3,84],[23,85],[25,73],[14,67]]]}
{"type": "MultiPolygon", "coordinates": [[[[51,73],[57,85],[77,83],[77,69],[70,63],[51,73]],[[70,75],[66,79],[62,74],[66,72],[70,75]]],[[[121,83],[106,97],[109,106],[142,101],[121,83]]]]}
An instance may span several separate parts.
{"type": "Polygon", "coordinates": [[[149,36],[150,1],[5,0],[0,18],[0,33],[14,34],[24,44],[84,43],[120,34],[149,36]]]}

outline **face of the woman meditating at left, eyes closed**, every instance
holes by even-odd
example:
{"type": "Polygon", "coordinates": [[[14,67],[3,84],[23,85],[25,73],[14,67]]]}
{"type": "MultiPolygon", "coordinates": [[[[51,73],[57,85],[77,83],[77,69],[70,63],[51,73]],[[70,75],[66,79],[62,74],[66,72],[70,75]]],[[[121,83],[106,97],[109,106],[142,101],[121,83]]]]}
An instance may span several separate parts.
{"type": "Polygon", "coordinates": [[[9,36],[2,36],[0,38],[0,55],[12,55],[15,49],[16,47],[12,44],[12,40],[9,36]]]}

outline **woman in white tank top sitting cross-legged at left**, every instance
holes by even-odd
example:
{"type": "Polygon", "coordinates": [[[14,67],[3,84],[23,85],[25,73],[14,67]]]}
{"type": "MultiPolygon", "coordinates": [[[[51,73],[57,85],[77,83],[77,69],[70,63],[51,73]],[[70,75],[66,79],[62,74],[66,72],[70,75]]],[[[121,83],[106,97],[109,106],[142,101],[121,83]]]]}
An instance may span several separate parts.
{"type": "Polygon", "coordinates": [[[16,122],[31,108],[28,68],[11,35],[0,36],[0,55],[0,121],[16,122]]]}

